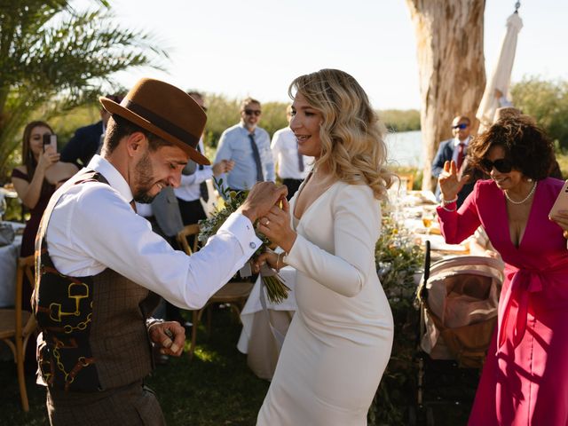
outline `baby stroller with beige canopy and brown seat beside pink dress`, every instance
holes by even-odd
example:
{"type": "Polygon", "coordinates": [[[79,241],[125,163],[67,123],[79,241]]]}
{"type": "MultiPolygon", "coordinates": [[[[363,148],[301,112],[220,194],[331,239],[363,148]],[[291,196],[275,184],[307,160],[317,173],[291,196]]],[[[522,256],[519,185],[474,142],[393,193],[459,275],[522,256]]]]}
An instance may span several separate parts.
{"type": "Polygon", "coordinates": [[[444,368],[469,368],[477,383],[497,323],[503,268],[500,259],[482,256],[455,256],[430,266],[430,241],[426,241],[424,273],[417,289],[420,325],[416,402],[419,410],[425,409],[428,425],[434,424],[432,405],[460,404],[454,394],[450,394],[450,400],[438,397],[425,401],[427,388],[439,384],[444,368]],[[434,371],[435,363],[442,366],[442,374],[439,369],[437,374],[427,374],[427,370],[434,371]]]}

